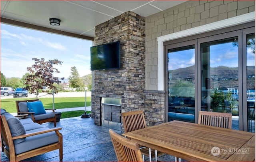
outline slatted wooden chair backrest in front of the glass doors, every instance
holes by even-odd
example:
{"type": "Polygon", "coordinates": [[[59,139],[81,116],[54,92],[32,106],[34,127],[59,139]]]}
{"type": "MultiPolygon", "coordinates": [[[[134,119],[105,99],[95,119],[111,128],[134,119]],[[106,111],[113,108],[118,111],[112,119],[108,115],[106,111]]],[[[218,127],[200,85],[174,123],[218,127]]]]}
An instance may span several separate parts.
{"type": "Polygon", "coordinates": [[[198,124],[231,129],[232,114],[200,111],[198,116],[198,124]]]}

